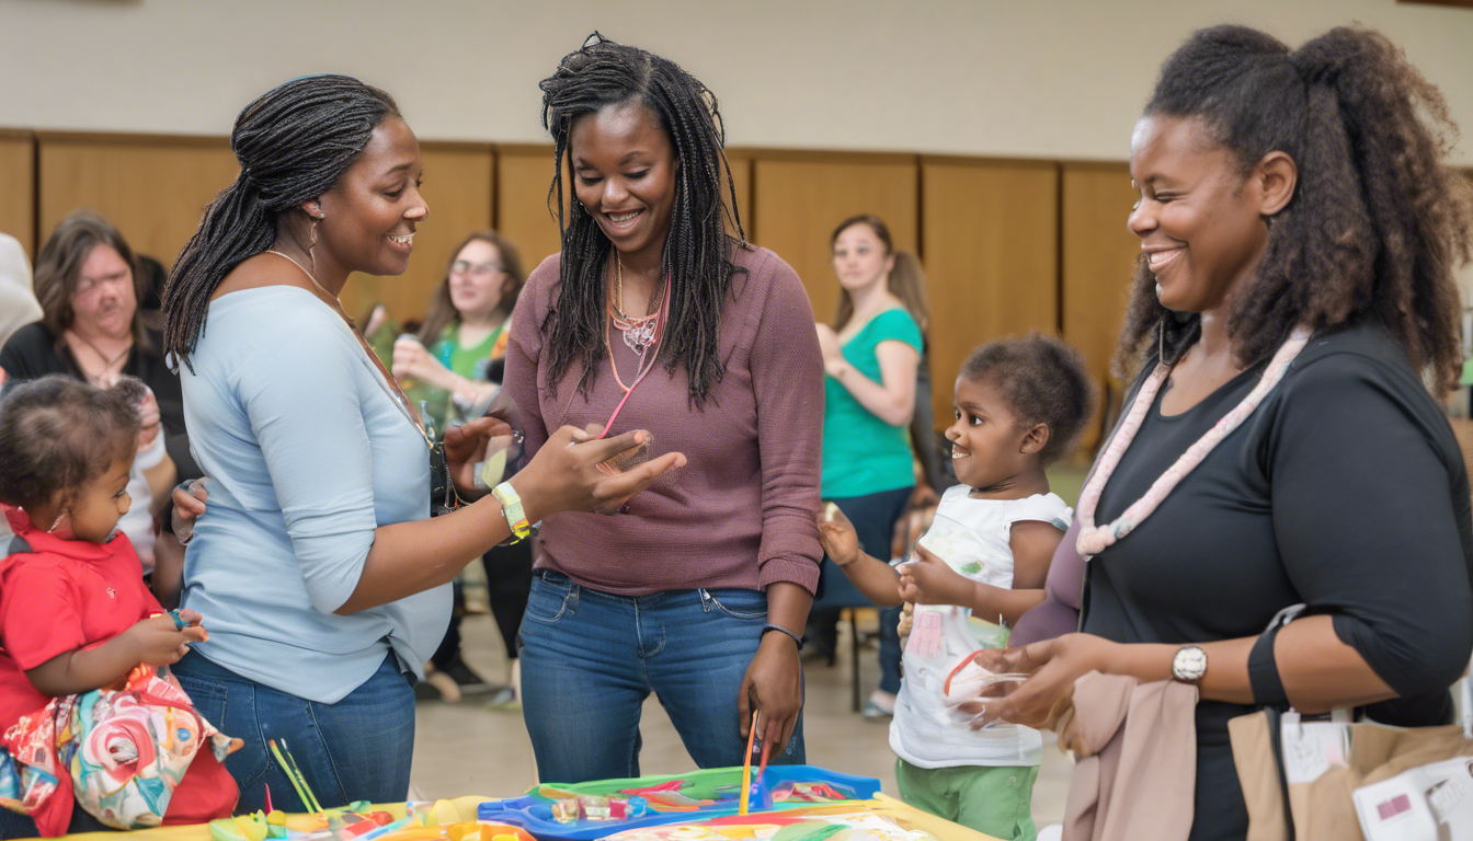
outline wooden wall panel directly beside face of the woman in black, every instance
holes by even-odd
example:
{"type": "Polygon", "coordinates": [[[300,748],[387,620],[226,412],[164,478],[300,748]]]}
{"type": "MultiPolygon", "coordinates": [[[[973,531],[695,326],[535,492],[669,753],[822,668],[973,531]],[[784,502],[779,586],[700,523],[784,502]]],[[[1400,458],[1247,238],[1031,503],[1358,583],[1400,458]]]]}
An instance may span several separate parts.
{"type": "MultiPolygon", "coordinates": [[[[1140,256],[1140,240],[1125,227],[1136,191],[1125,163],[1065,163],[1062,196],[1064,337],[1103,386],[1140,256]]],[[[1099,437],[1094,423],[1081,443],[1099,437]]]]}

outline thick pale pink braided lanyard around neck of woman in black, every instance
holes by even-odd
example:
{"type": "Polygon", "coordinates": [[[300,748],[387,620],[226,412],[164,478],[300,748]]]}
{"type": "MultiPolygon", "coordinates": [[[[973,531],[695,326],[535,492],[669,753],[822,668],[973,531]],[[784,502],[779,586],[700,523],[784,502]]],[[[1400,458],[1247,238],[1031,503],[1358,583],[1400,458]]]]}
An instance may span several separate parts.
{"type": "Polygon", "coordinates": [[[1264,371],[1264,377],[1258,380],[1254,390],[1243,398],[1243,402],[1233,407],[1233,411],[1223,415],[1223,420],[1217,421],[1198,439],[1196,443],[1187,448],[1186,452],[1177,458],[1165,473],[1162,473],[1146,490],[1146,495],[1125,508],[1125,513],[1115,518],[1114,523],[1106,523],[1105,526],[1094,524],[1094,508],[1099,505],[1100,493],[1105,490],[1105,485],[1109,482],[1115,467],[1119,464],[1122,455],[1130,448],[1130,443],[1136,439],[1136,433],[1140,432],[1140,424],[1146,418],[1146,411],[1150,404],[1156,399],[1156,392],[1161,390],[1161,383],[1167,380],[1171,374],[1171,365],[1161,362],[1156,370],[1150,373],[1150,379],[1142,383],[1140,390],[1136,392],[1134,402],[1130,404],[1130,412],[1125,420],[1121,421],[1119,430],[1111,439],[1109,446],[1100,454],[1099,467],[1084,483],[1084,490],[1080,492],[1080,541],[1078,549],[1080,555],[1087,561],[1094,555],[1103,552],[1106,548],[1112,546],[1117,541],[1131,533],[1137,526],[1140,526],[1146,517],[1155,513],[1161,501],[1171,493],[1175,486],[1186,479],[1189,473],[1196,470],[1196,465],[1202,464],[1212,448],[1223,442],[1224,437],[1231,434],[1231,432],[1248,420],[1248,415],[1254,414],[1254,409],[1268,396],[1268,392],[1283,380],[1284,374],[1289,371],[1289,364],[1293,362],[1299,351],[1309,342],[1311,330],[1308,327],[1295,327],[1289,334],[1289,340],[1279,348],[1274,358],[1268,361],[1268,368],[1264,371]]]}

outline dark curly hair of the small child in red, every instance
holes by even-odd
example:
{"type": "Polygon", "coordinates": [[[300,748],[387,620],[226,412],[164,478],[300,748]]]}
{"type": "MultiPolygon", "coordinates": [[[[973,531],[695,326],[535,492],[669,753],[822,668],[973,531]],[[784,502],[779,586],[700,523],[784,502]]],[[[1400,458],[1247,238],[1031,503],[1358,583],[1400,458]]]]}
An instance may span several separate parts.
{"type": "Polygon", "coordinates": [[[32,508],[75,495],[119,460],[133,460],[147,390],[124,377],[99,389],[53,374],[0,401],[0,502],[32,508]]]}

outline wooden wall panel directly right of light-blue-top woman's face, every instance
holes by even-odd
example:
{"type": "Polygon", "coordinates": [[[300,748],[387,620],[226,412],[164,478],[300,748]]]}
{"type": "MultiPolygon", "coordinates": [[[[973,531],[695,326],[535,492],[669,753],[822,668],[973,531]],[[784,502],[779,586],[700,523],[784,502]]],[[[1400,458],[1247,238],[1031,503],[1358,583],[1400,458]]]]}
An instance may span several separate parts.
{"type": "Polygon", "coordinates": [[[489,228],[495,196],[495,161],[489,143],[420,144],[424,161],[424,200],[430,218],[414,234],[409,270],[401,277],[355,274],[343,289],[343,309],[358,318],[373,303],[404,321],[424,318],[435,287],[445,280],[445,265],[467,234],[489,228]]]}

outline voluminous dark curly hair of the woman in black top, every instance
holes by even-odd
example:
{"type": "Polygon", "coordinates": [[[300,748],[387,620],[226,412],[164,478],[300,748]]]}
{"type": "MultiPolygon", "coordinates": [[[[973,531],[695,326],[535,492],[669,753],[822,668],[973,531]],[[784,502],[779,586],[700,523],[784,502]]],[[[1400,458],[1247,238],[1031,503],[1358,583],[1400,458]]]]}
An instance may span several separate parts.
{"type": "MultiPolygon", "coordinates": [[[[1473,246],[1473,187],[1442,162],[1457,136],[1442,94],[1391,40],[1340,27],[1290,52],[1246,27],[1200,29],[1162,65],[1146,115],[1203,119],[1245,174],[1276,150],[1298,165],[1252,286],[1233,300],[1240,365],[1270,356],[1296,324],[1376,314],[1438,392],[1455,386],[1452,267],[1473,246]]],[[[1175,361],[1199,334],[1200,318],[1164,308],[1137,264],[1117,373],[1158,343],[1175,361]]]]}

